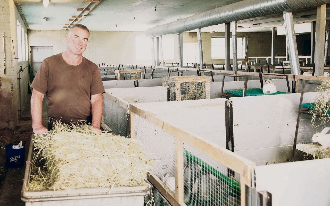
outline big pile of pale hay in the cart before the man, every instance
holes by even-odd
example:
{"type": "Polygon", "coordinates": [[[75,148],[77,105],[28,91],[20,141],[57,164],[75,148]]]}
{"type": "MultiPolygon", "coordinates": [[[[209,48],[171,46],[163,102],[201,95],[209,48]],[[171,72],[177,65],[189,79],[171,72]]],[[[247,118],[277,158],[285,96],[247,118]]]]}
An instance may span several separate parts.
{"type": "Polygon", "coordinates": [[[139,186],[152,160],[135,139],[94,132],[91,126],[54,123],[33,139],[28,190],[139,186]]]}

